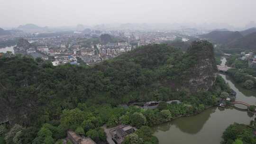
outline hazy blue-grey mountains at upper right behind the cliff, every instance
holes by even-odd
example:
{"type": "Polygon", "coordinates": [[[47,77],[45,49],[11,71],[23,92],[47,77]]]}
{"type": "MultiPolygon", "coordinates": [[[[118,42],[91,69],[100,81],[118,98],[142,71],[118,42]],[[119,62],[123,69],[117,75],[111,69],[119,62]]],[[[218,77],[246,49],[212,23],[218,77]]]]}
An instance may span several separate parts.
{"type": "Polygon", "coordinates": [[[243,31],[212,31],[200,38],[208,39],[213,43],[227,48],[256,49],[256,27],[243,31]]]}

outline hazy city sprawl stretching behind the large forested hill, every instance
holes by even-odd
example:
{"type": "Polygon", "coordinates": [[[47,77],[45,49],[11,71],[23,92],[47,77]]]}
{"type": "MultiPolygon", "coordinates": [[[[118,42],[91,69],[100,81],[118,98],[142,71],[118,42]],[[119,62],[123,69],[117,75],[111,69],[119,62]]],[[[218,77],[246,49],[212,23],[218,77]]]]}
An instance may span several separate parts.
{"type": "Polygon", "coordinates": [[[93,65],[129,52],[138,46],[173,41],[177,36],[177,34],[169,31],[100,31],[85,29],[83,31],[55,33],[17,32],[13,35],[1,37],[1,39],[8,40],[23,37],[29,43],[36,45],[28,48],[26,54],[34,58],[40,57],[43,60],[50,60],[54,66],[57,66],[65,63],[93,65]],[[119,40],[103,44],[100,42],[102,34],[109,34],[119,40]]]}

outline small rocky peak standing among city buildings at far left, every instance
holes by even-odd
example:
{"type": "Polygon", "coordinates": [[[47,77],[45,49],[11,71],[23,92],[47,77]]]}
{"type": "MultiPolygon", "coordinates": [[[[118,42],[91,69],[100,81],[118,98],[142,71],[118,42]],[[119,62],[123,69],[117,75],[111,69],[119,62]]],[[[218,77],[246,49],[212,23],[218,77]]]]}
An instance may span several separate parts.
{"type": "Polygon", "coordinates": [[[27,54],[27,49],[31,47],[30,43],[24,39],[20,38],[18,40],[17,46],[14,47],[15,54],[27,54]]]}

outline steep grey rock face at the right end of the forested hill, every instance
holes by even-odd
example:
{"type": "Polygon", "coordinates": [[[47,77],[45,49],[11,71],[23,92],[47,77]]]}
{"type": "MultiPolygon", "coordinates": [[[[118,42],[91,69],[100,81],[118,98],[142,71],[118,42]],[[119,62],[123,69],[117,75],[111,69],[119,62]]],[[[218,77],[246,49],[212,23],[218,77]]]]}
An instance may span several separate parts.
{"type": "Polygon", "coordinates": [[[197,92],[209,90],[216,80],[217,66],[214,58],[213,45],[208,41],[192,42],[187,50],[191,64],[185,72],[185,85],[189,90],[197,92]]]}

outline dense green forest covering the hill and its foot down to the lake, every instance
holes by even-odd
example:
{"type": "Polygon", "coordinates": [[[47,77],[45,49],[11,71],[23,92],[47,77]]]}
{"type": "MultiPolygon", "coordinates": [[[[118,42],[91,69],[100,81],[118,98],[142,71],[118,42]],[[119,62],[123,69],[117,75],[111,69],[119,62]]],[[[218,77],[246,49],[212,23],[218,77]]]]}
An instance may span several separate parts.
{"type": "Polygon", "coordinates": [[[220,76],[207,91],[190,93],[177,89],[184,71],[197,59],[168,45],[142,46],[93,67],[54,67],[39,59],[3,55],[0,112],[7,116],[10,125],[0,126],[0,142],[59,144],[65,131],[73,129],[105,144],[101,126],[130,124],[139,130],[129,135],[124,144],[135,144],[133,140],[137,144],[158,144],[148,126],[200,113],[216,105],[221,92],[230,92],[220,76]],[[182,103],[161,102],[153,110],[119,106],[173,99],[182,103]]]}

